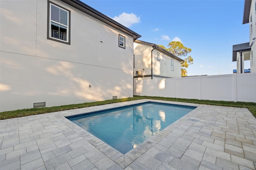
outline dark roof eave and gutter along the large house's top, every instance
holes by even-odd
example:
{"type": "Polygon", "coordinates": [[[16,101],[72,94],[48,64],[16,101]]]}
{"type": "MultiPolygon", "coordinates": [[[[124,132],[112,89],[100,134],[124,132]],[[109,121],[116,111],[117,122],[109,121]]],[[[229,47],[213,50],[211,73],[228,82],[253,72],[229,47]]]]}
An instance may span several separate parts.
{"type": "Polygon", "coordinates": [[[129,28],[126,28],[125,26],[123,26],[122,24],[112,20],[111,18],[109,18],[108,16],[98,12],[97,10],[95,10],[94,8],[84,4],[83,2],[81,2],[80,0],[61,0],[63,2],[65,2],[66,4],[69,4],[70,6],[73,6],[74,8],[116,28],[119,31],[124,32],[125,34],[128,34],[129,36],[133,37],[133,40],[136,40],[137,38],[140,38],[141,36],[139,34],[137,34],[136,32],[130,30],[129,28]]]}

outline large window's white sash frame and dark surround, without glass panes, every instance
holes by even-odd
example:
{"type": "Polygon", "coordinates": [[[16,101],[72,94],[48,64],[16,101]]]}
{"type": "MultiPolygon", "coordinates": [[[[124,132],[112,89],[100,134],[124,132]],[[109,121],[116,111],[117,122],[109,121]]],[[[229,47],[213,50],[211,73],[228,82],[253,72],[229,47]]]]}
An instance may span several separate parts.
{"type": "MultiPolygon", "coordinates": [[[[58,32],[59,30],[55,30],[55,31],[58,32]]],[[[56,42],[66,43],[66,44],[70,45],[70,10],[67,10],[67,9],[63,8],[62,6],[54,4],[53,2],[50,2],[50,1],[48,1],[48,30],[47,30],[47,39],[54,40],[56,42]],[[51,7],[52,6],[55,6],[56,8],[59,8],[59,9],[65,11],[65,12],[67,12],[67,25],[61,24],[59,22],[51,20],[51,10],[52,10],[51,7]],[[51,24],[52,22],[67,28],[66,29],[66,40],[61,40],[62,36],[63,36],[62,32],[60,32],[61,34],[59,34],[59,38],[54,38],[54,36],[52,36],[52,24],[51,24]],[[60,39],[60,36],[61,36],[61,39],[60,39]]]]}

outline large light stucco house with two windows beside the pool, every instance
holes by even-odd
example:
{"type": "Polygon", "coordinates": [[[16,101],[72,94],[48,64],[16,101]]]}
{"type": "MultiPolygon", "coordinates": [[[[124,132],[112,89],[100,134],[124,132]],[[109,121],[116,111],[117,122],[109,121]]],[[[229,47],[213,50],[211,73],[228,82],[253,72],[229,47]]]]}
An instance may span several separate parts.
{"type": "Polygon", "coordinates": [[[79,0],[0,8],[0,111],[133,96],[139,34],[79,0]]]}

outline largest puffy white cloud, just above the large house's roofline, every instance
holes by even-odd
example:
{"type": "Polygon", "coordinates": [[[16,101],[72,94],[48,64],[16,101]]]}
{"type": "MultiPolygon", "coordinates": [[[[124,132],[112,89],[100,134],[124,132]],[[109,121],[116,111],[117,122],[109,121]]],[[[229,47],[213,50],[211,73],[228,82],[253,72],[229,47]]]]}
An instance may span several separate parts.
{"type": "Polygon", "coordinates": [[[136,16],[133,13],[127,14],[125,12],[123,12],[119,16],[114,16],[114,18],[112,18],[112,19],[115,20],[116,22],[119,22],[120,24],[122,24],[126,27],[131,27],[132,24],[136,24],[136,23],[140,22],[140,17],[139,16],[136,16]]]}

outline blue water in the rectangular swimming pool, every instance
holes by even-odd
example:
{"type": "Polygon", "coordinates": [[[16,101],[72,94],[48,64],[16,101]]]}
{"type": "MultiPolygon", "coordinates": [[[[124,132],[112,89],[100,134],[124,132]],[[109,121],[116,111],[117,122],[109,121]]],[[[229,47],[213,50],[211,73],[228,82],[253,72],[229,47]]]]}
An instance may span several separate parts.
{"type": "Polygon", "coordinates": [[[195,108],[147,102],[67,118],[125,154],[195,108]]]}

